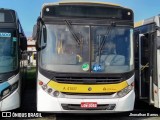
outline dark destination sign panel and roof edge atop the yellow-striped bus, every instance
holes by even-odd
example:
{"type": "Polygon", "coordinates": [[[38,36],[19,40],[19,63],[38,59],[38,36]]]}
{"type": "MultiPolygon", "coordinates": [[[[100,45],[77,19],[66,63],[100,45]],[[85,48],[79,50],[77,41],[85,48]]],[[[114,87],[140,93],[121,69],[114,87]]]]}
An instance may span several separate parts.
{"type": "MultiPolygon", "coordinates": [[[[67,16],[70,15],[68,12],[72,12],[72,17],[80,15],[81,17],[84,13],[75,13],[75,11],[80,11],[79,9],[85,9],[86,16],[94,17],[94,14],[97,12],[100,12],[100,14],[97,14],[99,18],[118,18],[118,19],[125,19],[125,20],[133,20],[133,11],[130,8],[122,7],[117,4],[112,4],[108,2],[91,2],[91,1],[62,1],[62,2],[53,2],[53,3],[45,3],[42,6],[41,10],[41,17],[47,17],[47,16],[67,16]],[[73,7],[74,6],[74,7],[73,7]],[[70,8],[69,8],[70,7],[70,8]],[[87,9],[89,8],[89,10],[87,9]],[[100,8],[99,8],[100,7],[100,8]],[[94,10],[96,8],[96,11],[94,13],[94,10]],[[65,10],[65,12],[59,12],[61,10],[65,10]],[[107,10],[104,12],[104,10],[107,10]],[[91,12],[92,11],[92,12],[91,12]],[[128,17],[128,13],[130,16],[128,17]],[[89,14],[89,15],[88,15],[89,14]],[[123,14],[123,15],[121,15],[123,14]],[[126,17],[127,16],[127,17],[126,17]]],[[[82,10],[81,10],[82,11],[82,10]]],[[[70,15],[71,16],[71,15],[70,15]]],[[[97,16],[95,16],[97,17],[97,16]]]]}

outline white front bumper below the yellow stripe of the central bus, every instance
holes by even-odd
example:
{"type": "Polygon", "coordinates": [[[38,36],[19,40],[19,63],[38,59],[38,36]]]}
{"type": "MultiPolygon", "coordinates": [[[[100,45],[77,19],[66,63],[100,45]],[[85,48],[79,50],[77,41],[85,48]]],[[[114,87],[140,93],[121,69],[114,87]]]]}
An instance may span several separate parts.
{"type": "Polygon", "coordinates": [[[50,96],[42,89],[37,92],[37,111],[51,112],[51,113],[116,113],[127,112],[134,109],[135,93],[130,91],[122,98],[114,99],[70,99],[70,98],[56,98],[50,96]],[[96,102],[97,106],[113,105],[113,109],[81,109],[82,102],[96,102]],[[74,107],[74,110],[67,109],[74,107]],[[77,109],[76,109],[77,108],[77,109]],[[78,109],[80,108],[80,109],[78,109]]]}

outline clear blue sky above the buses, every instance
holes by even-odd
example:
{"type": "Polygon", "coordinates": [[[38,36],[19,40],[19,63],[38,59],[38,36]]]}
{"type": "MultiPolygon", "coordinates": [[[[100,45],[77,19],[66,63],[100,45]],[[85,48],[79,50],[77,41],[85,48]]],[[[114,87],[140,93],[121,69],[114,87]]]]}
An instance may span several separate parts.
{"type": "MultiPolygon", "coordinates": [[[[0,0],[0,8],[9,8],[16,10],[26,36],[30,37],[32,35],[33,26],[36,23],[38,16],[40,15],[42,5],[44,3],[51,3],[58,1],[62,0],[0,0]]],[[[127,8],[131,8],[134,11],[135,22],[160,14],[160,0],[96,0],[96,1],[111,2],[120,4],[121,6],[127,8]]]]}

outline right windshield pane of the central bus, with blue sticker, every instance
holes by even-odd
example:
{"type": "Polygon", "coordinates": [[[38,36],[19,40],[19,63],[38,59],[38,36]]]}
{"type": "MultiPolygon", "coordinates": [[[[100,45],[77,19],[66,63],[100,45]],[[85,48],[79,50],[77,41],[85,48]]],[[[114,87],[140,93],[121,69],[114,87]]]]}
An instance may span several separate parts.
{"type": "Polygon", "coordinates": [[[133,30],[128,27],[92,27],[92,72],[133,70],[133,30]]]}

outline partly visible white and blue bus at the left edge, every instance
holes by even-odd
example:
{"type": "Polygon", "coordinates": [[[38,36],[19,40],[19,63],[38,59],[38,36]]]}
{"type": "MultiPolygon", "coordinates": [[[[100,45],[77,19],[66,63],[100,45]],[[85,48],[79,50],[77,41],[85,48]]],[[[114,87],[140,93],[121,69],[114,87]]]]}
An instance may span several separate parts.
{"type": "Polygon", "coordinates": [[[21,52],[27,41],[17,13],[0,9],[0,111],[20,107],[21,52]]]}

